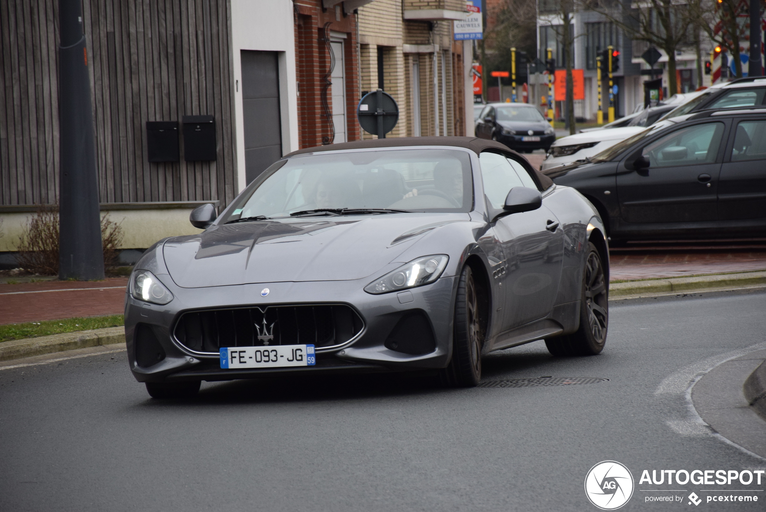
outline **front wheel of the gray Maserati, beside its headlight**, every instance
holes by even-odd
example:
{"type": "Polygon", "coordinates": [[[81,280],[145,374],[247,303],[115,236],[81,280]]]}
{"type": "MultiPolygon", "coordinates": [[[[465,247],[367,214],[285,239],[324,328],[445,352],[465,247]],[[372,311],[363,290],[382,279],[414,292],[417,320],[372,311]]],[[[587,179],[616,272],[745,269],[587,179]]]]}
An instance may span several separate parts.
{"type": "Polygon", "coordinates": [[[447,386],[473,387],[481,380],[481,349],[486,331],[480,290],[473,271],[466,266],[460,274],[455,301],[452,360],[442,370],[447,386]]]}

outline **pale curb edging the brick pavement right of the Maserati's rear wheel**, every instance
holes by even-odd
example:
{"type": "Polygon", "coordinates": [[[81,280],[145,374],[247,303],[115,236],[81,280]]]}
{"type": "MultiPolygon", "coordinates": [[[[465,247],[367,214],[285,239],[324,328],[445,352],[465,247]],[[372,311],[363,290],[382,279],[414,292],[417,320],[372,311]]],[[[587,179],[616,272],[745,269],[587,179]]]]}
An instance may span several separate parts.
{"type": "Polygon", "coordinates": [[[715,276],[677,277],[649,281],[616,282],[609,285],[610,298],[624,295],[643,295],[674,292],[693,292],[701,289],[732,289],[766,285],[766,272],[741,272],[715,276]]]}

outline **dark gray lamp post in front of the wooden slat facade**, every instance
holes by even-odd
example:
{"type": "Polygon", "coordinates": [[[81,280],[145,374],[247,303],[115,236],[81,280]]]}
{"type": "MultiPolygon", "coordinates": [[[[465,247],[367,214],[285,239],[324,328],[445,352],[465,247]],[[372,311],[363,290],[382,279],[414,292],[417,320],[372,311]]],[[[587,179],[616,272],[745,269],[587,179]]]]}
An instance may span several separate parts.
{"type": "Polygon", "coordinates": [[[59,279],[103,279],[88,54],[80,0],[59,0],[59,279]]]}

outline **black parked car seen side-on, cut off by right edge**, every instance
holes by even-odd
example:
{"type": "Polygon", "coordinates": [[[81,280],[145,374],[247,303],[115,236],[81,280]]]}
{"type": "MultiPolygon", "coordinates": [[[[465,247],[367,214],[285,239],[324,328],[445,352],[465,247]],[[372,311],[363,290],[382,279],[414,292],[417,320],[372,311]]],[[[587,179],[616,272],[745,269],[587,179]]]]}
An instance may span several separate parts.
{"type": "Polygon", "coordinates": [[[588,197],[613,242],[766,236],[766,108],[661,121],[545,174],[588,197]]]}

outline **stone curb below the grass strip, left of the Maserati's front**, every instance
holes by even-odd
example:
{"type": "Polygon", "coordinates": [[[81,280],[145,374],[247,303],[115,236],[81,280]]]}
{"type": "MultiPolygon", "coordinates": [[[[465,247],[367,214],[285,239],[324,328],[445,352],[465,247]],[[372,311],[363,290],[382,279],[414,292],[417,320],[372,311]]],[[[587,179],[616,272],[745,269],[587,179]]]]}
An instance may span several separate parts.
{"type": "Polygon", "coordinates": [[[97,347],[125,343],[124,327],[67,332],[0,343],[0,361],[40,356],[54,352],[73,351],[77,348],[97,347]]]}

